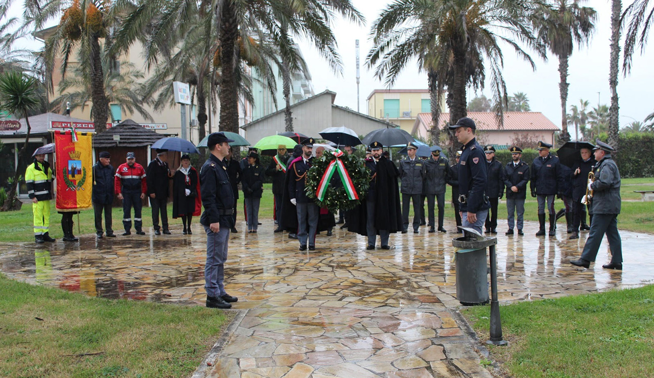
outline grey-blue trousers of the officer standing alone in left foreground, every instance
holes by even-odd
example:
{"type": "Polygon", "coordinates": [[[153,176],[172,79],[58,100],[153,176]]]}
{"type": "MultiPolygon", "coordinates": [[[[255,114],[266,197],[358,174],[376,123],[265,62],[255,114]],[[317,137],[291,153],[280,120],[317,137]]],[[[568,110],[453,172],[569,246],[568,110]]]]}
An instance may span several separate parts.
{"type": "Polygon", "coordinates": [[[230,240],[230,229],[221,227],[213,232],[209,226],[204,226],[207,233],[207,264],[205,265],[205,290],[207,296],[220,297],[227,294],[222,283],[225,275],[224,264],[227,260],[227,247],[230,240]]]}

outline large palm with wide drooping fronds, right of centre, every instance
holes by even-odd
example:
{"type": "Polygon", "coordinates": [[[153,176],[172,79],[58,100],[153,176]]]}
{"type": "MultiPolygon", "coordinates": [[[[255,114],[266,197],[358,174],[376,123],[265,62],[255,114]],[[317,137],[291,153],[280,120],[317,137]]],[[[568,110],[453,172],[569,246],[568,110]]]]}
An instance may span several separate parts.
{"type": "MultiPolygon", "coordinates": [[[[397,0],[374,22],[371,36],[375,45],[366,61],[369,66],[377,65],[375,75],[386,78],[390,85],[411,59],[417,59],[419,68],[428,73],[432,95],[435,88],[442,93],[447,87],[452,124],[467,114],[466,87],[483,87],[485,68],[489,67],[501,126],[502,103],[507,105],[508,96],[500,43],[508,43],[535,67],[513,39],[544,54],[528,27],[527,17],[533,10],[534,2],[526,0],[397,0]]],[[[436,108],[432,107],[432,118],[436,108]]],[[[432,135],[438,136],[438,128],[432,135]]]]}

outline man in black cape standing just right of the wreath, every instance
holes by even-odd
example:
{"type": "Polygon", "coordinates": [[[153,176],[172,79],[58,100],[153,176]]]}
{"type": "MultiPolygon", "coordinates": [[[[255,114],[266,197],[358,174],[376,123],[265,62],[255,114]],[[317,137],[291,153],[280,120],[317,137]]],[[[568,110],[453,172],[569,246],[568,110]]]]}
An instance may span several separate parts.
{"type": "Polygon", "coordinates": [[[395,164],[383,156],[379,142],[370,143],[371,158],[366,158],[366,167],[370,170],[370,188],[365,201],[349,213],[350,232],[368,236],[368,247],[375,249],[377,235],[381,239],[381,248],[390,249],[390,233],[402,231],[402,209],[398,177],[400,173],[395,164]]]}

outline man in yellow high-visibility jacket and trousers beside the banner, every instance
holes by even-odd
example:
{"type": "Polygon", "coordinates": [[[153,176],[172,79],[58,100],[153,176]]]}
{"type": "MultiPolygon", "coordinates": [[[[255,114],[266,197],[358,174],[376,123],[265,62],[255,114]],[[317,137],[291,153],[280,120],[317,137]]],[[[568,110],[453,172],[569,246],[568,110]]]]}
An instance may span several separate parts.
{"type": "Polygon", "coordinates": [[[48,234],[50,228],[50,199],[52,199],[52,168],[45,155],[34,156],[34,163],[25,171],[27,194],[32,200],[34,214],[34,239],[37,243],[54,241],[48,234]]]}

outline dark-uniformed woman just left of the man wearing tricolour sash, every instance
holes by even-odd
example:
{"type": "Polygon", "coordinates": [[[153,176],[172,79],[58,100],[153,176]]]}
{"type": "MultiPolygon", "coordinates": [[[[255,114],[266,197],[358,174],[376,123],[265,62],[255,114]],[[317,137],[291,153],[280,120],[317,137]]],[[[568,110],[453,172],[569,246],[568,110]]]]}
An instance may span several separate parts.
{"type": "Polygon", "coordinates": [[[256,233],[259,222],[259,203],[264,193],[264,174],[266,169],[259,162],[259,154],[252,151],[247,156],[248,165],[243,168],[243,198],[247,211],[247,230],[256,233]]]}

